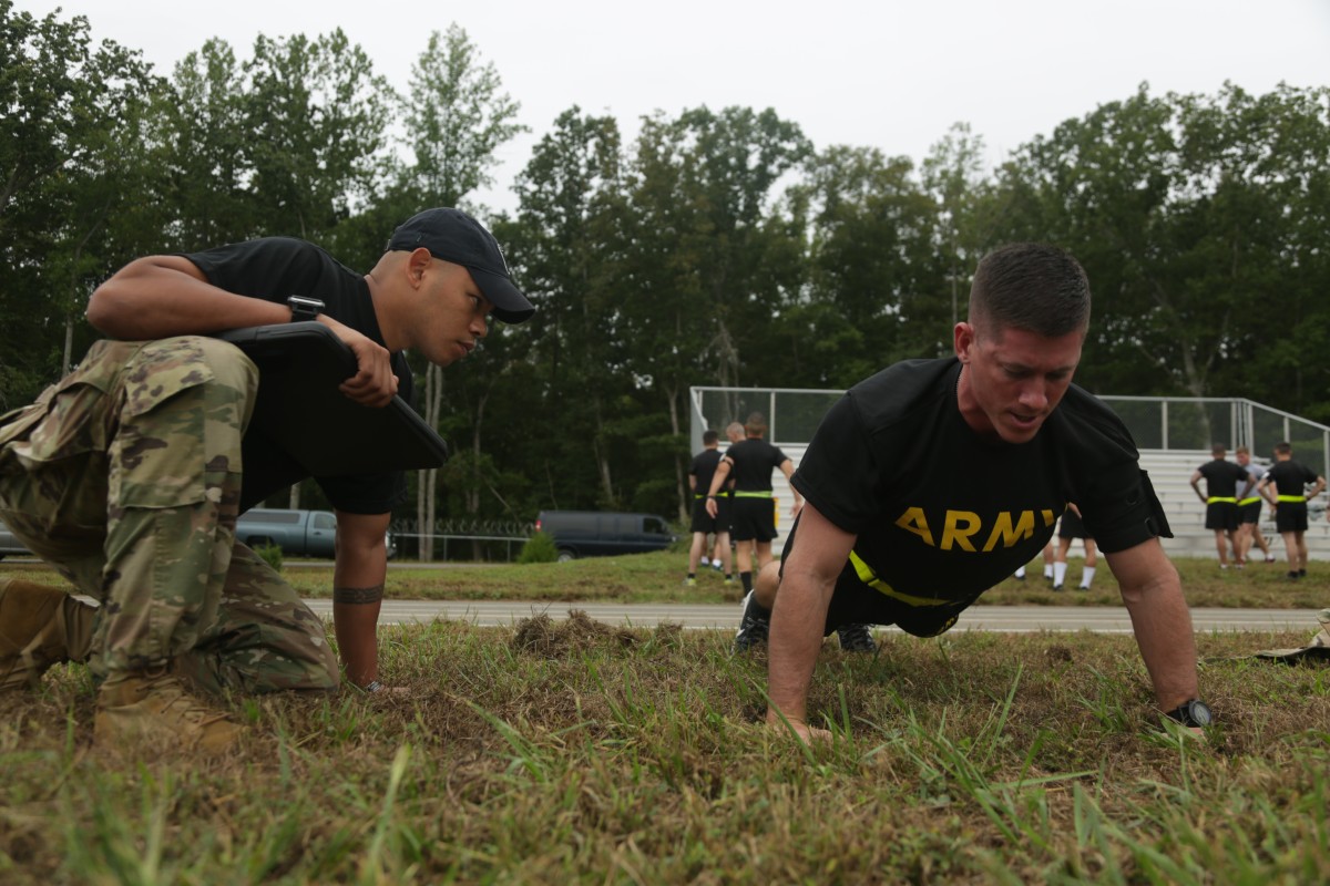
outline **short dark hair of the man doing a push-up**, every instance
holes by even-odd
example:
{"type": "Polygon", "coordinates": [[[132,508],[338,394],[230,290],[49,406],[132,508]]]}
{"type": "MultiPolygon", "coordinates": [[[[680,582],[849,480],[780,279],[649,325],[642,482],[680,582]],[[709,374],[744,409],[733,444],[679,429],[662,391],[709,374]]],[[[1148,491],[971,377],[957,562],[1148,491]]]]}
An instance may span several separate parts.
{"type": "Polygon", "coordinates": [[[1045,339],[1089,325],[1089,279],[1065,250],[1048,243],[1011,243],[975,268],[970,321],[988,332],[1025,329],[1045,339]]]}

